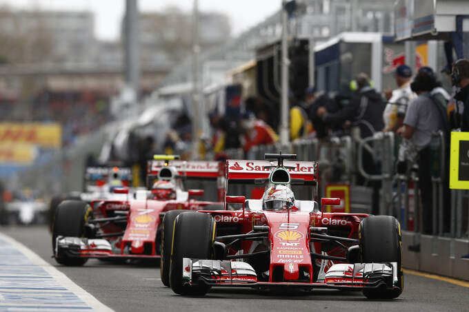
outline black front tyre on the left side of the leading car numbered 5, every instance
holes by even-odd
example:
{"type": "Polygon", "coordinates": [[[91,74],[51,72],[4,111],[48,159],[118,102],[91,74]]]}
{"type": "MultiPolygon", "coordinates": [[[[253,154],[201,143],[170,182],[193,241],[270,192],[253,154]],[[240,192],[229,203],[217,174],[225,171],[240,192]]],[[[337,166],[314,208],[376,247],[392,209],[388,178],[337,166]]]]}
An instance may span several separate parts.
{"type": "Polygon", "coordinates": [[[210,287],[203,282],[184,285],[182,260],[211,259],[215,233],[215,221],[209,214],[196,211],[177,216],[174,222],[170,265],[170,286],[179,295],[205,295],[210,287]]]}

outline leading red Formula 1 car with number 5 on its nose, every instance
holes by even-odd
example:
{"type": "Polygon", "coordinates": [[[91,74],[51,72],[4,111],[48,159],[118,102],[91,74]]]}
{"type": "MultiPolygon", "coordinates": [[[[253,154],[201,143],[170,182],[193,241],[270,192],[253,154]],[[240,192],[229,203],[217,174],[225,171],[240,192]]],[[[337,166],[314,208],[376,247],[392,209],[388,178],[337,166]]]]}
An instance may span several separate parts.
{"type": "Polygon", "coordinates": [[[176,218],[174,232],[164,234],[173,236],[172,253],[163,255],[171,257],[175,293],[296,287],[363,291],[367,298],[401,294],[399,222],[391,216],[322,212],[340,199],[322,198],[319,207],[314,200],[317,163],[284,161],[295,158],[266,154],[274,161],[228,160],[227,194],[240,191],[239,183],[244,194],[249,184],[265,183],[262,198],[226,196],[224,210],[190,211],[176,218]],[[294,191],[310,196],[299,200],[294,191]],[[236,203],[241,209],[231,210],[236,203]]]}

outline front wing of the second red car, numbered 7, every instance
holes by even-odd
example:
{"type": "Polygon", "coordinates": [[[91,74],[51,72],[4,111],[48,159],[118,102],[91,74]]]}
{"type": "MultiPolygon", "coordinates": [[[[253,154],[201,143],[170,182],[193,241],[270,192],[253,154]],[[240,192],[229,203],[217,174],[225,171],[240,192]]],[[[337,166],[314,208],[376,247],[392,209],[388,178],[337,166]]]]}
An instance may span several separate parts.
{"type": "Polygon", "coordinates": [[[161,258],[160,255],[114,253],[108,240],[57,236],[54,257],[61,258],[161,258]]]}

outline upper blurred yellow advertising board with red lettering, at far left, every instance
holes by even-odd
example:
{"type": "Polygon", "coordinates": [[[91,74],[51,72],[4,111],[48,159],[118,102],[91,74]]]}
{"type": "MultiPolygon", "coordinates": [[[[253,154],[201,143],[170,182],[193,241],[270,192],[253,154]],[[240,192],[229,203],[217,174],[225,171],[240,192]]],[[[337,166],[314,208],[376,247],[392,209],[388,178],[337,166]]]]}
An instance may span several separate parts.
{"type": "Polygon", "coordinates": [[[30,144],[61,147],[62,127],[59,123],[0,123],[0,144],[30,144]]]}

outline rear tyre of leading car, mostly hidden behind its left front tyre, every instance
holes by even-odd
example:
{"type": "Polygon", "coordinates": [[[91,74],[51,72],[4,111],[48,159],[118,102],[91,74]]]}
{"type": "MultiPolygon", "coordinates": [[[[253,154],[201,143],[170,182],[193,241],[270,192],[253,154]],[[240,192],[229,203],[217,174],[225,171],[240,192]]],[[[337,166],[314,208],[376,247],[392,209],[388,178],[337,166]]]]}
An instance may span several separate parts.
{"type": "Polygon", "coordinates": [[[172,247],[172,229],[174,220],[179,214],[188,210],[171,210],[164,214],[161,222],[161,282],[166,287],[170,287],[170,263],[171,263],[171,247],[172,247]]]}

